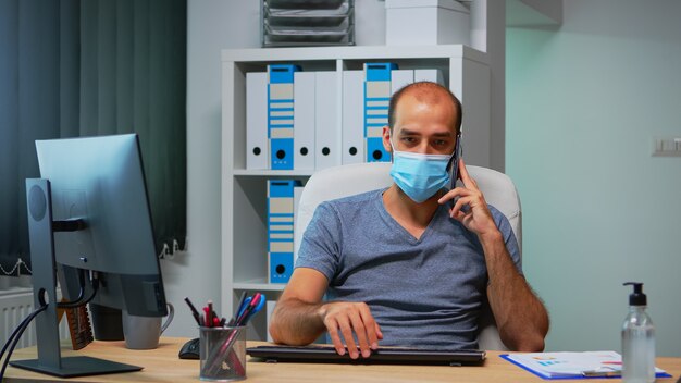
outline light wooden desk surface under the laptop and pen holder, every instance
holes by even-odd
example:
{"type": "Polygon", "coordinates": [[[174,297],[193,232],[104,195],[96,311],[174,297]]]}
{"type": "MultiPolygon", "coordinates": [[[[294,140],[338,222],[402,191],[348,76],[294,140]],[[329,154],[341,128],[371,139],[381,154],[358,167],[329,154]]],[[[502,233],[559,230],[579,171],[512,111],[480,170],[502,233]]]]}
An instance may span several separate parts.
{"type": "MultiPolygon", "coordinates": [[[[159,348],[132,350],[123,342],[95,342],[79,351],[63,349],[63,356],[90,356],[123,363],[144,366],[139,372],[75,378],[74,382],[196,382],[199,381],[199,361],[177,358],[179,347],[187,338],[161,338],[159,348]]],[[[249,342],[248,346],[262,343],[249,342]]],[[[248,382],[545,382],[499,358],[498,351],[488,351],[481,367],[447,366],[386,366],[386,365],[321,365],[265,363],[249,361],[248,382]]],[[[35,358],[35,347],[14,351],[12,360],[35,358]]],[[[681,358],[658,358],[657,366],[674,378],[658,379],[673,383],[681,374],[681,358]]],[[[9,367],[4,382],[60,382],[61,379],[9,367]]],[[[562,381],[562,380],[561,380],[562,381]]],[[[594,382],[619,382],[595,380],[594,382]]]]}

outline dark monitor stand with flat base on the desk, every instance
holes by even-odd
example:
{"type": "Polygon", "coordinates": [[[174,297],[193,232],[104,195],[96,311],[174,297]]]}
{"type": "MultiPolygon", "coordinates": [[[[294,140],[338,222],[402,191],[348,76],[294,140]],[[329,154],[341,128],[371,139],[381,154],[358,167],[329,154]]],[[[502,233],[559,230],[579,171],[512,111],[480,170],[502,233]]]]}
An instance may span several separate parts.
{"type": "Polygon", "coordinates": [[[54,260],[54,231],[61,225],[52,222],[50,182],[41,178],[26,180],[26,200],[28,202],[34,307],[38,308],[44,304],[48,307],[35,318],[38,358],[15,360],[10,365],[60,378],[141,370],[139,366],[85,356],[61,357],[57,319],[57,262],[54,260]]]}

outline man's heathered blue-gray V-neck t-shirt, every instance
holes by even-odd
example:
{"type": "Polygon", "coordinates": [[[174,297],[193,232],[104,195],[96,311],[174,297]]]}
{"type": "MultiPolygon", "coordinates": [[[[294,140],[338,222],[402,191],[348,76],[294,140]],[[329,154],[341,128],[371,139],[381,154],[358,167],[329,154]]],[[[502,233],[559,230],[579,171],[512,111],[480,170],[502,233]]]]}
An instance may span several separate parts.
{"type": "MultiPolygon", "coordinates": [[[[321,203],[305,232],[296,268],[330,281],[327,300],[363,301],[384,346],[478,348],[487,271],[478,236],[441,206],[416,239],[383,206],[384,189],[321,203]]],[[[518,243],[490,206],[521,271],[518,243]]]]}

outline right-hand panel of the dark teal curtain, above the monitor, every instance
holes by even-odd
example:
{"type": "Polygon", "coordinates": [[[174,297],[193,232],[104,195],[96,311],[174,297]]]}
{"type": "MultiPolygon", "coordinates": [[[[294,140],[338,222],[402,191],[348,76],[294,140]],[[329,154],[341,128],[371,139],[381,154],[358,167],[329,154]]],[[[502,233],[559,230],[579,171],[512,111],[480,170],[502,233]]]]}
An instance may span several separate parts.
{"type": "Polygon", "coordinates": [[[186,8],[81,2],[79,135],[139,134],[159,250],[186,237],[186,8]]]}

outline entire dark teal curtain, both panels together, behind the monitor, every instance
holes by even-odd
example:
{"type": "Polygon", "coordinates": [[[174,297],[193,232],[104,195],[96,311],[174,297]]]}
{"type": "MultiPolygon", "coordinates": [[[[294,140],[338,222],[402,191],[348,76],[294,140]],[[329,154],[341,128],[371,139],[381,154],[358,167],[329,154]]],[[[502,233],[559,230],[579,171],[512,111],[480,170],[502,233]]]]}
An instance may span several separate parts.
{"type": "Polygon", "coordinates": [[[0,0],[0,271],[29,262],[24,180],[39,175],[36,139],[139,134],[157,248],[184,248],[186,8],[0,0]]]}

